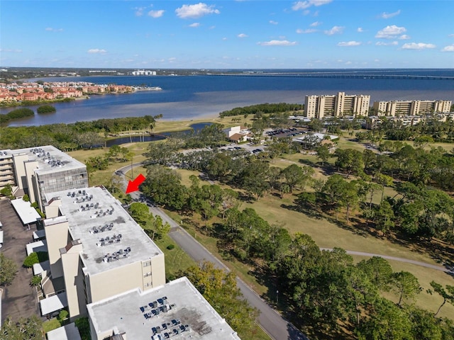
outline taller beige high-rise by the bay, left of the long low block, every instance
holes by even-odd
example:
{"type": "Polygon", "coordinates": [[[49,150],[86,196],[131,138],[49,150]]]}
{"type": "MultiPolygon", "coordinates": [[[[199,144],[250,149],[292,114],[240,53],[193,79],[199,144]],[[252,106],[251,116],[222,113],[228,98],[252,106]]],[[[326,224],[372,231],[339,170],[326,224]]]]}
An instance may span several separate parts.
{"type": "Polygon", "coordinates": [[[367,115],[370,96],[348,95],[338,92],[337,95],[306,96],[304,115],[307,118],[338,117],[341,115],[367,115]]]}

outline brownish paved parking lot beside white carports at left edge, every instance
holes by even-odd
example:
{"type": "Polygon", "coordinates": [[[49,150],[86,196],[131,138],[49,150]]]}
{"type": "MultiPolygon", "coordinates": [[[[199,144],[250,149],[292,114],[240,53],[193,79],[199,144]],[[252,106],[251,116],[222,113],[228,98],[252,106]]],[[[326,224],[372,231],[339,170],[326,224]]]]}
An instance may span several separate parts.
{"type": "Polygon", "coordinates": [[[33,231],[36,227],[32,225],[30,230],[23,227],[13,206],[6,199],[0,200],[0,221],[4,231],[4,244],[1,251],[18,266],[18,273],[13,283],[2,287],[4,289],[1,299],[2,322],[6,317],[18,320],[33,314],[40,315],[36,290],[30,286],[33,272],[22,266],[26,258],[26,244],[33,242],[33,231]]]}

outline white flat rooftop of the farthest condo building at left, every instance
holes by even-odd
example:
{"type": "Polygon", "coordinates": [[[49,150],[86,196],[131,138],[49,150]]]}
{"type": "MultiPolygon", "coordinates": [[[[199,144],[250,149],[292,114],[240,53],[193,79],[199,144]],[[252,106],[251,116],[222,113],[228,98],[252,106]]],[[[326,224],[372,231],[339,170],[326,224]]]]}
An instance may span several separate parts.
{"type": "Polygon", "coordinates": [[[37,174],[50,174],[55,171],[67,171],[86,168],[85,164],[72,158],[69,154],[60,151],[52,145],[43,147],[28,147],[26,149],[11,150],[12,154],[26,154],[29,161],[38,161],[37,174]]]}

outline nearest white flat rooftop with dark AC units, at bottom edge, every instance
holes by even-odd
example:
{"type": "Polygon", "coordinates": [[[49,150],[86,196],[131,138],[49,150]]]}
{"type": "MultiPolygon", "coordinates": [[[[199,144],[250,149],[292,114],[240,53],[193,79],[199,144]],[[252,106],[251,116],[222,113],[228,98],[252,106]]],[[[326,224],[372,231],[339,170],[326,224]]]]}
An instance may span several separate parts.
{"type": "Polygon", "coordinates": [[[97,334],[116,329],[136,340],[240,339],[186,277],[145,292],[130,290],[87,309],[97,334]]]}

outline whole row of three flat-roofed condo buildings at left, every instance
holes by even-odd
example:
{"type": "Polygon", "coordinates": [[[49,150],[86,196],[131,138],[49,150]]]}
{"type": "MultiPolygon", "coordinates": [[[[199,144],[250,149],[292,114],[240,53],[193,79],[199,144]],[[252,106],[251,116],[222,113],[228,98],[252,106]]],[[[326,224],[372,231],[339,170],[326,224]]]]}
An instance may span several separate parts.
{"type": "MultiPolygon", "coordinates": [[[[166,283],[162,251],[106,188],[88,186],[84,164],[52,146],[1,153],[1,183],[45,212],[27,244],[28,254],[48,251],[33,266],[42,316],[88,317],[96,340],[240,339],[187,278],[166,283]]],[[[47,336],[81,339],[74,324],[47,336]]]]}

